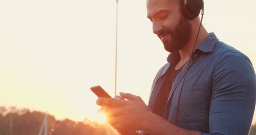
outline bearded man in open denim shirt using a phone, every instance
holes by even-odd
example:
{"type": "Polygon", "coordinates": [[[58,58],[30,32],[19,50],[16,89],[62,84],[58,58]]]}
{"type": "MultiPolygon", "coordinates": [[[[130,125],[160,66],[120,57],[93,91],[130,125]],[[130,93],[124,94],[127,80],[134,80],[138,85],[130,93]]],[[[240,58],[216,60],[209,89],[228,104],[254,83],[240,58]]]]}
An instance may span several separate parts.
{"type": "Polygon", "coordinates": [[[256,102],[249,58],[200,27],[198,14],[183,12],[180,0],[147,0],[153,32],[171,52],[168,63],[154,79],[148,106],[139,96],[120,93],[98,98],[99,112],[121,134],[247,135],[256,102]]]}

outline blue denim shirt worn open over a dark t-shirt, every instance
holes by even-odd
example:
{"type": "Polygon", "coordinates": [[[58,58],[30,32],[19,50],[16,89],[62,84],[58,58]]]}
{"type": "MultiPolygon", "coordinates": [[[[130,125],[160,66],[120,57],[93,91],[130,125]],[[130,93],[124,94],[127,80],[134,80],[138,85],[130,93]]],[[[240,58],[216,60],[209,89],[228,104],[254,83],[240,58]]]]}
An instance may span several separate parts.
{"type": "MultiPolygon", "coordinates": [[[[154,79],[148,103],[151,110],[173,57],[168,56],[168,63],[154,79]]],[[[164,117],[181,128],[203,132],[202,135],[247,135],[255,102],[256,75],[251,61],[210,33],[194,50],[190,64],[186,63],[175,78],[164,117]]]]}

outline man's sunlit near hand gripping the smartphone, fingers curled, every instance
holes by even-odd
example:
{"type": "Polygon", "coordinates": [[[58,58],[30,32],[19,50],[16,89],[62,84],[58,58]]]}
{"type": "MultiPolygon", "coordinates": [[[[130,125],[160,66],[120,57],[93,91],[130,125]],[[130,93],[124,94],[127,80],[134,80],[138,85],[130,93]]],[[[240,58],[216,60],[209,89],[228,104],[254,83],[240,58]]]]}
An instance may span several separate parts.
{"type": "Polygon", "coordinates": [[[150,114],[148,106],[139,96],[121,92],[120,95],[127,100],[99,97],[96,104],[109,107],[102,107],[98,112],[105,113],[108,122],[115,129],[142,130],[142,125],[150,114]]]}

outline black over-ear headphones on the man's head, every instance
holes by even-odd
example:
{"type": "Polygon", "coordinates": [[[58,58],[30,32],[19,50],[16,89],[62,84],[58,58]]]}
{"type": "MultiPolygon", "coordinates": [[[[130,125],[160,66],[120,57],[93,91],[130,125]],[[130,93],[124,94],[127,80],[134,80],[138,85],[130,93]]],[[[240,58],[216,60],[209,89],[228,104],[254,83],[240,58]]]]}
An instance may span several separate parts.
{"type": "Polygon", "coordinates": [[[195,19],[204,10],[203,0],[181,0],[181,13],[188,20],[195,19]]]}

